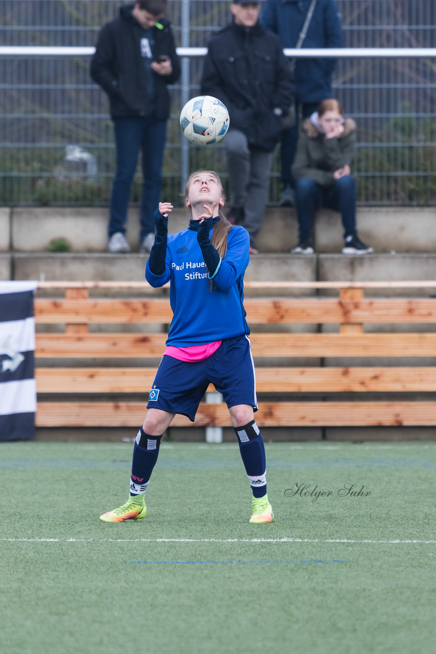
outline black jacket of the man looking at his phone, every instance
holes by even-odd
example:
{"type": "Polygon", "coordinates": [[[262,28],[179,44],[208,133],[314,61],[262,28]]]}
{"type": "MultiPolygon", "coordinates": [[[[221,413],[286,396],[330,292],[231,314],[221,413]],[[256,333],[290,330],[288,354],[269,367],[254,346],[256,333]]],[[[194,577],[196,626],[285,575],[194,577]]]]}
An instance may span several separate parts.
{"type": "MultiPolygon", "coordinates": [[[[91,77],[109,95],[112,118],[146,116],[148,94],[141,38],[144,29],[133,18],[134,5],[124,5],[120,15],[102,27],[91,61],[91,77]]],[[[158,120],[169,118],[170,99],[167,84],[174,84],[180,75],[173,33],[165,18],[151,28],[150,44],[154,59],[166,54],[171,58],[171,75],[154,76],[154,109],[158,120]]]]}

